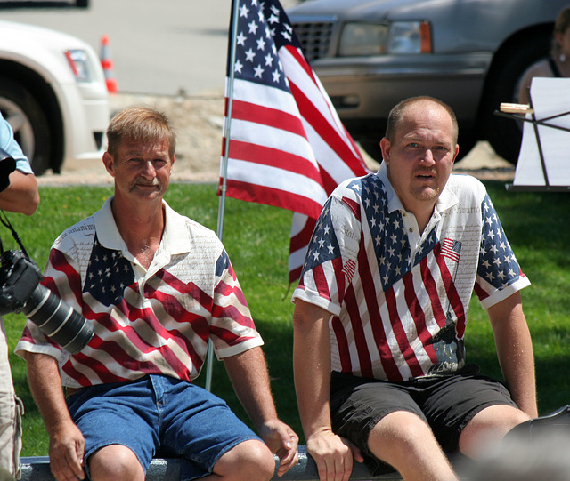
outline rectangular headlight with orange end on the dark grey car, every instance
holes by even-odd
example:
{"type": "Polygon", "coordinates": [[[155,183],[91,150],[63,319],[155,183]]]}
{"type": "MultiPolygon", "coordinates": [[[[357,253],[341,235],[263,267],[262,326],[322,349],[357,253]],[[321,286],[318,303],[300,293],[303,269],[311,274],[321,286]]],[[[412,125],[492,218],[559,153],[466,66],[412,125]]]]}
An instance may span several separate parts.
{"type": "Polygon", "coordinates": [[[345,24],[338,44],[340,57],[430,52],[431,26],[428,21],[349,22],[345,24]]]}

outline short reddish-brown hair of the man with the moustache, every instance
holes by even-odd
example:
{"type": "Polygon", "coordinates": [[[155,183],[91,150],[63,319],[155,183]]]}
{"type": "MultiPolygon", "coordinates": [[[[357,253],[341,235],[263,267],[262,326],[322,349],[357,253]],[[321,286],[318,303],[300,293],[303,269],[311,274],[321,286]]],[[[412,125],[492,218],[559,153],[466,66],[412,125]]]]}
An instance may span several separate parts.
{"type": "Polygon", "coordinates": [[[123,140],[155,142],[167,140],[168,156],[174,158],[176,132],[168,117],[150,107],[127,107],[118,112],[107,129],[107,151],[117,155],[118,146],[123,140]]]}

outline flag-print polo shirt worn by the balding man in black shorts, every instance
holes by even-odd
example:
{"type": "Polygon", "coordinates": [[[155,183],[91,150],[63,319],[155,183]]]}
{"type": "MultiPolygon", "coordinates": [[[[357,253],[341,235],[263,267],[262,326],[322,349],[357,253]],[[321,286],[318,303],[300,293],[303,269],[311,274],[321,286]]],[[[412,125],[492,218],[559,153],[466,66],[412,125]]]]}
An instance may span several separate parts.
{"type": "Polygon", "coordinates": [[[452,175],[419,234],[381,164],[324,205],[293,301],[331,313],[333,370],[407,381],[465,364],[473,291],[487,309],[526,285],[481,182],[452,175]]]}

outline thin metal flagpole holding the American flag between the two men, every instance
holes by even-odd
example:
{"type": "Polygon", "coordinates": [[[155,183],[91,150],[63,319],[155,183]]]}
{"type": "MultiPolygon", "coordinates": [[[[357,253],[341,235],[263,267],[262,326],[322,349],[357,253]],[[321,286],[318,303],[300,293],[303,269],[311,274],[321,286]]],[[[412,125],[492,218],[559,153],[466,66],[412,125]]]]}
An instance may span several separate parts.
{"type": "MultiPolygon", "coordinates": [[[[238,36],[238,20],[240,19],[240,0],[232,1],[232,41],[230,42],[230,65],[228,66],[228,108],[227,115],[224,120],[224,158],[222,159],[222,186],[220,188],[220,202],[217,209],[217,236],[222,241],[224,236],[224,213],[225,213],[225,192],[227,190],[227,176],[228,176],[228,158],[230,156],[230,127],[232,124],[232,109],[233,109],[233,79],[235,72],[233,66],[235,65],[236,57],[236,39],[238,36]]],[[[206,357],[206,389],[212,390],[212,367],[214,362],[214,346],[212,340],[208,338],[208,355],[206,357]]]]}

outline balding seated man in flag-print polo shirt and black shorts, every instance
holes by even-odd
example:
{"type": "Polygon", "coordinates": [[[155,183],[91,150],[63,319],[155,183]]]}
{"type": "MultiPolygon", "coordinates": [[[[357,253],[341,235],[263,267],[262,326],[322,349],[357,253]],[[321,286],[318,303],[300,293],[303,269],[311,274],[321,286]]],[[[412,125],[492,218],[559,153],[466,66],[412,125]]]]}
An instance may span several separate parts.
{"type": "Polygon", "coordinates": [[[451,175],[457,136],[442,102],[404,100],[379,172],[343,182],[318,220],[293,295],[294,368],[322,481],[346,481],[353,457],[407,481],[457,479],[442,446],[476,456],[537,415],[518,292],[530,283],[483,184],[451,175]],[[473,290],[509,390],[465,363],[473,290]]]}

